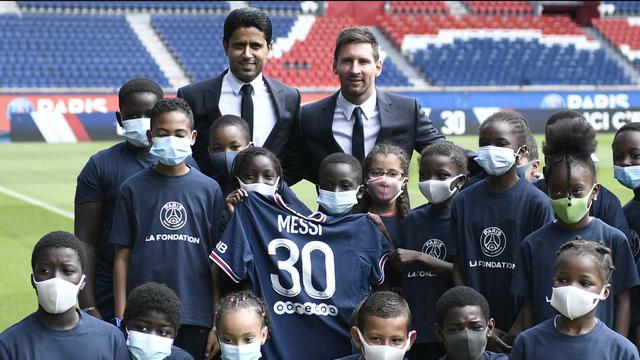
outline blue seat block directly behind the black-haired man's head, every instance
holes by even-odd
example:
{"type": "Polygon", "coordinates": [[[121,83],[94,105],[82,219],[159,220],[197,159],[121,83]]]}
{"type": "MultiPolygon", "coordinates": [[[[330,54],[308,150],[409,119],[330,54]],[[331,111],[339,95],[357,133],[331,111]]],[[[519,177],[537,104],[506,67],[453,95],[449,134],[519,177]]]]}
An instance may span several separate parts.
{"type": "MultiPolygon", "coordinates": [[[[295,16],[272,16],[273,39],[287,36],[295,21],[295,16]]],[[[208,79],[227,67],[224,16],[158,15],[151,22],[192,80],[208,79]]]]}

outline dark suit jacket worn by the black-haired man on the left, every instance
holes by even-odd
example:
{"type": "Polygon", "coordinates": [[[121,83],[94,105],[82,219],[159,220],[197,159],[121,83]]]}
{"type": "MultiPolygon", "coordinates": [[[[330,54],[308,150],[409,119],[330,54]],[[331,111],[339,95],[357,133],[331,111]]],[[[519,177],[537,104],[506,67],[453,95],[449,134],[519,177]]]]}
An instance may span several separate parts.
{"type": "MultiPolygon", "coordinates": [[[[209,160],[209,127],[222,114],[218,108],[222,79],[228,69],[213,79],[200,81],[178,89],[178,97],[184,99],[193,111],[195,129],[198,131],[196,142],[192,147],[193,158],[198,163],[201,171],[209,176],[214,176],[215,171],[209,160]]],[[[267,137],[264,147],[271,150],[281,158],[289,139],[292,137],[295,124],[300,113],[300,92],[278,80],[262,77],[271,91],[271,98],[276,109],[276,124],[267,137]]],[[[254,114],[254,121],[260,121],[260,116],[254,114]]]]}

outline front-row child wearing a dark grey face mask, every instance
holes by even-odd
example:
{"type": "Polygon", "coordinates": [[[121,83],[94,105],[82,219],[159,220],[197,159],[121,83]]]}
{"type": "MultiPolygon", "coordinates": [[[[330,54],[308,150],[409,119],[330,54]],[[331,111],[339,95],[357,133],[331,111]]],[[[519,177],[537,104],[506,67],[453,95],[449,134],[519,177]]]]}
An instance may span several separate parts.
{"type": "Polygon", "coordinates": [[[495,331],[487,299],[476,290],[456,286],[447,290],[436,303],[436,335],[443,341],[447,355],[440,360],[506,360],[504,354],[486,351],[495,331]]]}

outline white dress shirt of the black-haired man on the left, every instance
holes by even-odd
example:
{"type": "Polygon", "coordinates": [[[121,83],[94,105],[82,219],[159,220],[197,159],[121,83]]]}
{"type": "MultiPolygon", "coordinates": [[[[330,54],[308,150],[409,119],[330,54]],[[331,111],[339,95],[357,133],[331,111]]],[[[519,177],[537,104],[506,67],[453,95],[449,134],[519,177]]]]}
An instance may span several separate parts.
{"type": "MultiPolygon", "coordinates": [[[[240,89],[242,85],[244,83],[231,71],[227,71],[224,75],[220,101],[218,102],[218,108],[222,115],[240,116],[242,110],[240,89]]],[[[262,74],[253,79],[251,86],[253,86],[253,94],[251,94],[251,100],[253,100],[253,139],[251,140],[255,146],[263,146],[278,119],[271,99],[271,91],[265,84],[262,74]]]]}

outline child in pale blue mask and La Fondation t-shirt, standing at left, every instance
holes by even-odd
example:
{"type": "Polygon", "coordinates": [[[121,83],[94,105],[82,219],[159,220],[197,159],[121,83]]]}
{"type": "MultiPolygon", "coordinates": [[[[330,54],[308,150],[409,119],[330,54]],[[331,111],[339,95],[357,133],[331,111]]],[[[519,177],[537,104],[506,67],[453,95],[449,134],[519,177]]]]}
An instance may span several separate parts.
{"type": "Polygon", "coordinates": [[[214,286],[208,252],[218,236],[224,200],[220,186],[185,164],[195,141],[193,115],[182,99],[161,100],[151,111],[153,168],[129,178],[118,195],[111,243],[116,316],[127,294],[155,281],[182,302],[175,343],[202,359],[212,327],[214,286]]]}

